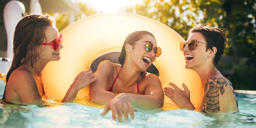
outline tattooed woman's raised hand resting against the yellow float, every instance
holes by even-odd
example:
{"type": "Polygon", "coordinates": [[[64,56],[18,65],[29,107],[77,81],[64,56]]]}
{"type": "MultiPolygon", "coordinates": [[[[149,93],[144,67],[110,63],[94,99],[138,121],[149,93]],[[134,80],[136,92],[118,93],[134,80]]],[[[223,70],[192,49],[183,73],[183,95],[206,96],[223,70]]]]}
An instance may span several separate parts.
{"type": "Polygon", "coordinates": [[[180,108],[195,109],[194,105],[190,101],[190,91],[188,87],[183,83],[184,91],[181,90],[173,83],[169,83],[171,87],[165,87],[164,92],[167,97],[169,97],[173,102],[175,102],[180,108]]]}

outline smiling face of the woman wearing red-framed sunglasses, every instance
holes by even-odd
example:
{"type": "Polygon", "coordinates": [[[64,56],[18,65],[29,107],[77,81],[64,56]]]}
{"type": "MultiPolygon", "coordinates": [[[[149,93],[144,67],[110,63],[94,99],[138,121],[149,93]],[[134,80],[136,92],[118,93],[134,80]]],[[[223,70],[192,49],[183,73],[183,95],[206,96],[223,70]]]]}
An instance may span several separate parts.
{"type": "MultiPolygon", "coordinates": [[[[58,29],[55,26],[48,26],[45,30],[44,43],[51,43],[59,37],[58,29]]],[[[60,60],[60,49],[63,48],[62,44],[59,44],[58,49],[55,51],[52,45],[40,45],[38,52],[40,60],[43,61],[57,61],[60,60]]]]}

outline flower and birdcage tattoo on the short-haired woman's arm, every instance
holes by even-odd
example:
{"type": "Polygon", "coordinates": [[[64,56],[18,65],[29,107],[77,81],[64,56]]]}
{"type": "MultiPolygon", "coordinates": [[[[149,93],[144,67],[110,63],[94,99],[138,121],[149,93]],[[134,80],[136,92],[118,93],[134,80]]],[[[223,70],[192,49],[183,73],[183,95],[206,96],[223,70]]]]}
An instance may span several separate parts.
{"type": "Polygon", "coordinates": [[[222,95],[225,92],[224,85],[227,86],[228,83],[224,78],[210,77],[210,79],[212,80],[210,82],[206,79],[204,87],[205,92],[209,85],[209,90],[206,92],[206,110],[215,113],[220,111],[219,90],[222,95]]]}

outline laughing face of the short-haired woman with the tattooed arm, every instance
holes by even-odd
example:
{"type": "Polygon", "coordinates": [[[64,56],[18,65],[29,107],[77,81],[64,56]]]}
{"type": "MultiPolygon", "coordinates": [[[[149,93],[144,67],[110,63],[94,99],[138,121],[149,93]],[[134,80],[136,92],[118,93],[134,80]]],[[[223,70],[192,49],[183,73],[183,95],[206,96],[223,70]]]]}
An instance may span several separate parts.
{"type": "Polygon", "coordinates": [[[209,50],[206,52],[206,43],[204,36],[199,32],[192,33],[189,37],[187,42],[190,40],[196,39],[198,42],[196,43],[196,47],[194,50],[189,50],[188,45],[183,49],[183,54],[186,59],[185,68],[195,70],[196,68],[202,68],[202,66],[206,63],[208,58],[209,50]]]}

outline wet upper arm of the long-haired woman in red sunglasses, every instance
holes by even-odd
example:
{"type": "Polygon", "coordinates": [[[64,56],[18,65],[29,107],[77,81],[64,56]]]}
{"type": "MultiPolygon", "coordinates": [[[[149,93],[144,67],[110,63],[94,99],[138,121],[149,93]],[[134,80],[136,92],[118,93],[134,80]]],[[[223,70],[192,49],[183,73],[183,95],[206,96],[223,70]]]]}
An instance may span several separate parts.
{"type": "Polygon", "coordinates": [[[8,86],[12,87],[23,103],[42,100],[36,80],[29,71],[13,71],[8,80],[8,86]]]}

